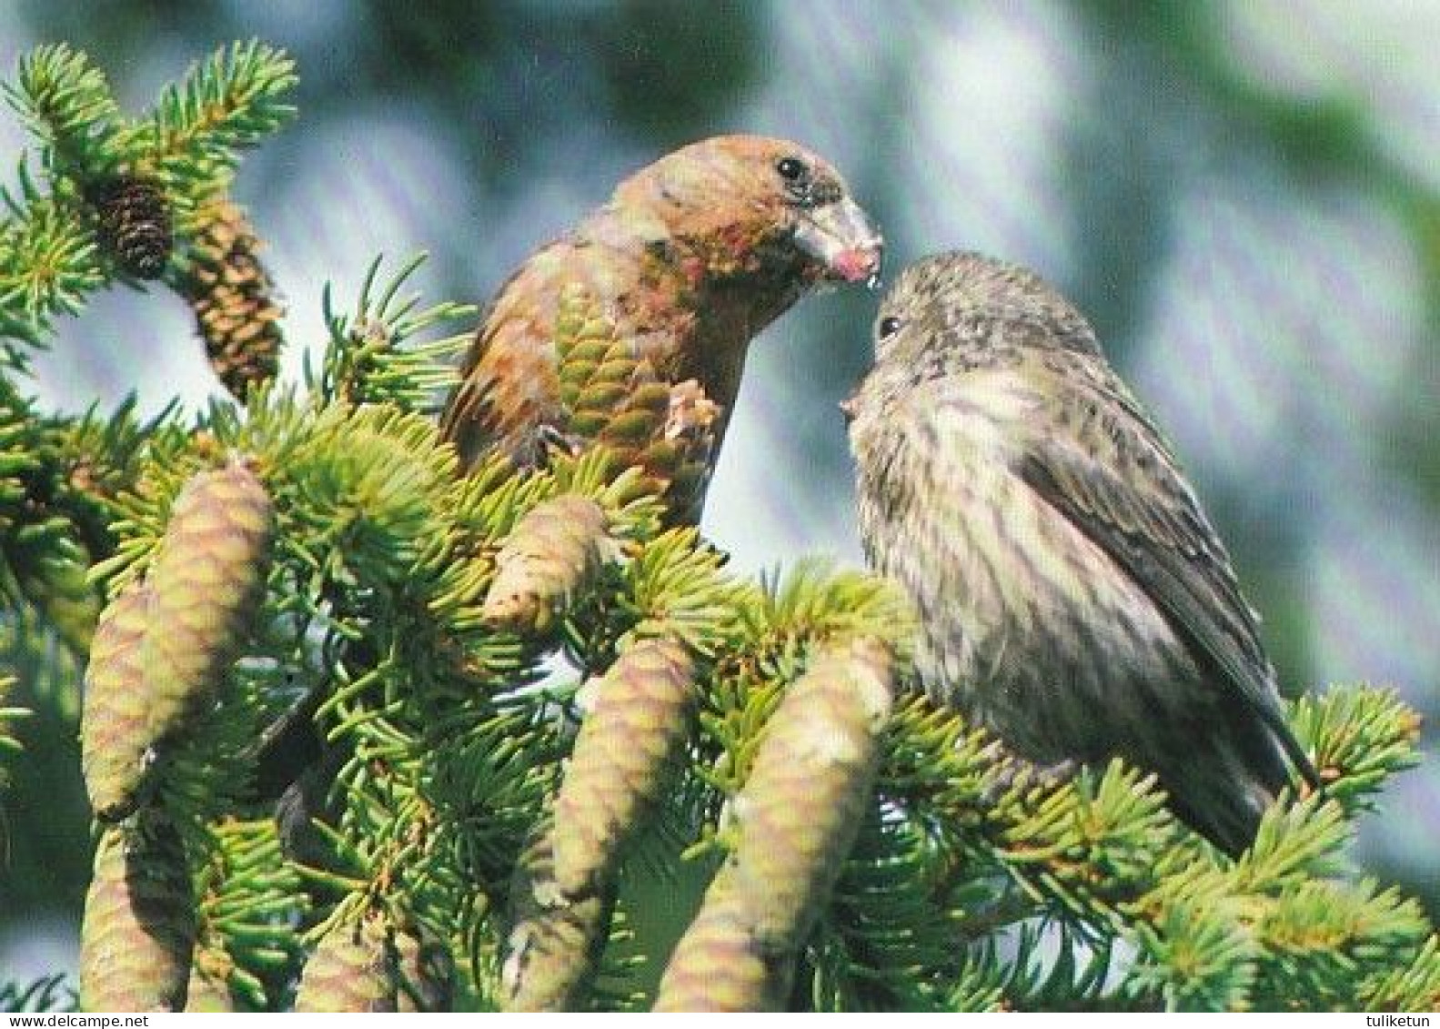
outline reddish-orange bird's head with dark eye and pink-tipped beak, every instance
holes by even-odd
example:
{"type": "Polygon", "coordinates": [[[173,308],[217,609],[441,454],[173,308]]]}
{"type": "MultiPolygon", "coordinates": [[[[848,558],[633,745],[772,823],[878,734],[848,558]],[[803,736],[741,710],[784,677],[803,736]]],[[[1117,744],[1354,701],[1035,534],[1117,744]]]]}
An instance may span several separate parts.
{"type": "Polygon", "coordinates": [[[717,135],[667,154],[615,192],[693,278],[809,287],[880,277],[884,244],[840,173],[798,143],[717,135]]]}

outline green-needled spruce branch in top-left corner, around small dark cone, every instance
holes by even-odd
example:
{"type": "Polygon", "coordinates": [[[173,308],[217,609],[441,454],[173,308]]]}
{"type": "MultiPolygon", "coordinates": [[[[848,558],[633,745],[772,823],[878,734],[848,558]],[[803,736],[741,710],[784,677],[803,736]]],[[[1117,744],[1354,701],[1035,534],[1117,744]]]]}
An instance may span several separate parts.
{"type": "MultiPolygon", "coordinates": [[[[7,363],[23,370],[22,347],[43,346],[55,316],[78,314],[95,290],[171,270],[173,229],[184,241],[200,239],[203,257],[202,236],[213,220],[204,205],[226,192],[240,151],[294,112],[282,101],[294,84],[294,63],[281,50],[236,43],[167,86],[150,115],[130,120],[84,53],[53,45],[23,56],[6,95],[39,143],[46,183],[22,156],[19,187],[3,197],[7,363]]],[[[196,294],[193,278],[171,285],[196,294]]],[[[230,336],[242,331],[233,307],[226,303],[215,316],[229,317],[230,336]]],[[[265,324],[259,331],[269,331],[265,324]]]]}

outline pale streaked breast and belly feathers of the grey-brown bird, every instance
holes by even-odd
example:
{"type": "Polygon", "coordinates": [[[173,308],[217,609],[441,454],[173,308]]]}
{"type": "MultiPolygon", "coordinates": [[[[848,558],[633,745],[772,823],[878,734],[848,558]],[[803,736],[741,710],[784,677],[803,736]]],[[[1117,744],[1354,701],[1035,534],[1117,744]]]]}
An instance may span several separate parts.
{"type": "Polygon", "coordinates": [[[1161,672],[1175,650],[1142,589],[1017,474],[1018,447],[1044,431],[1040,411],[1012,372],[978,370],[922,383],[855,425],[880,458],[861,473],[861,535],[920,608],[922,676],[1001,722],[1058,686],[1037,666],[1087,666],[1076,651],[1094,650],[1128,666],[1120,674],[1161,672]],[[1047,660],[1012,662],[1037,653],[1047,660]]]}

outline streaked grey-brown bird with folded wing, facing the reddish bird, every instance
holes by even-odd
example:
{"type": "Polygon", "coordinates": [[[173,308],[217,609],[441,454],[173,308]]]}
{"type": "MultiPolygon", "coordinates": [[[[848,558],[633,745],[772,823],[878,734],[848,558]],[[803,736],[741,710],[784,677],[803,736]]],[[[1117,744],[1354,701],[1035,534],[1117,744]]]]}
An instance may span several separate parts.
{"type": "Polygon", "coordinates": [[[1038,764],[1119,755],[1230,855],[1293,765],[1257,617],[1086,318],[978,254],[907,268],[845,404],[873,566],[914,598],[926,690],[1038,764]]]}

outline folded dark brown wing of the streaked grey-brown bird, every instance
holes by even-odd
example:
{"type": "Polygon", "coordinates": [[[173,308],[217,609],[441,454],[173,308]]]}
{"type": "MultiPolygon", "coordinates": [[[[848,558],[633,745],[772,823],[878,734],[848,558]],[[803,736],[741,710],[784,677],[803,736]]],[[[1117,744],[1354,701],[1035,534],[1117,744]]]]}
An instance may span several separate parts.
{"type": "Polygon", "coordinates": [[[1054,388],[1079,391],[1080,402],[1032,427],[1020,477],[1145,589],[1313,781],[1280,712],[1256,614],[1161,434],[1117,379],[1056,375],[1054,388]]]}

